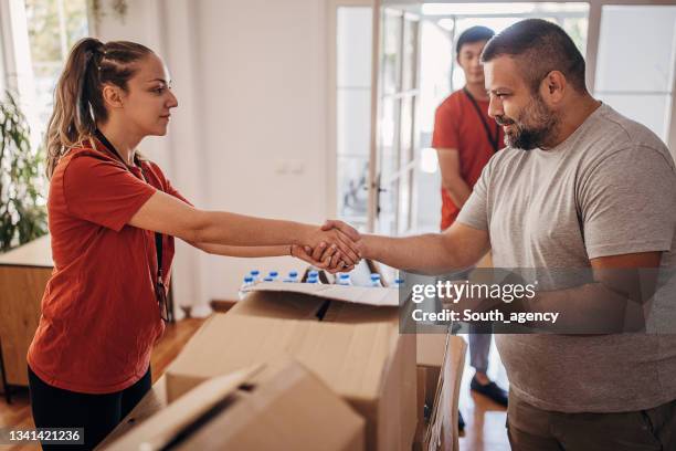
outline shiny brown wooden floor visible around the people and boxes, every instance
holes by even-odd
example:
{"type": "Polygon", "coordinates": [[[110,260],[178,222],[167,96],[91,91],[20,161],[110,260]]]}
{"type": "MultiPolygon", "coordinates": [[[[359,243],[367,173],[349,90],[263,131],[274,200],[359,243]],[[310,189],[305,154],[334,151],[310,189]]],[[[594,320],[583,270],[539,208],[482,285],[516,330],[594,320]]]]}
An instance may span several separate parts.
{"type": "MultiPolygon", "coordinates": [[[[152,381],[157,380],[167,366],[181,352],[186,342],[194,334],[204,319],[188,318],[167,327],[165,336],[152,353],[152,381]]],[[[468,361],[468,357],[466,359],[468,361]]],[[[474,370],[465,367],[463,389],[461,392],[461,411],[467,423],[464,437],[460,439],[463,451],[501,451],[509,450],[507,432],[505,429],[506,413],[499,406],[482,396],[471,394],[469,380],[474,370]]],[[[507,387],[505,369],[499,360],[495,345],[490,349],[490,364],[488,374],[501,387],[507,387]]],[[[0,427],[33,428],[28,389],[15,390],[11,405],[4,398],[0,399],[0,427]]],[[[0,449],[9,447],[0,445],[0,449]]],[[[36,445],[22,445],[9,448],[12,451],[35,450],[36,445]]]]}

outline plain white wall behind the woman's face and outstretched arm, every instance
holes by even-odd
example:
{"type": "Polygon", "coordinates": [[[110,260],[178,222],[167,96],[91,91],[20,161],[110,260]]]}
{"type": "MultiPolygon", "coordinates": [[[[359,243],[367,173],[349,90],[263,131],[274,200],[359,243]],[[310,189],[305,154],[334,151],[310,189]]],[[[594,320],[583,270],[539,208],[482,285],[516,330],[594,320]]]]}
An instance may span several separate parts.
{"type": "MultiPolygon", "coordinates": [[[[169,65],[179,107],[144,150],[196,206],[320,222],[326,218],[326,3],[317,0],[128,0],[103,40],[148,44],[169,65]],[[286,171],[284,170],[284,166],[286,171]]],[[[246,271],[302,268],[180,247],[179,304],[235,298],[246,271]]]]}

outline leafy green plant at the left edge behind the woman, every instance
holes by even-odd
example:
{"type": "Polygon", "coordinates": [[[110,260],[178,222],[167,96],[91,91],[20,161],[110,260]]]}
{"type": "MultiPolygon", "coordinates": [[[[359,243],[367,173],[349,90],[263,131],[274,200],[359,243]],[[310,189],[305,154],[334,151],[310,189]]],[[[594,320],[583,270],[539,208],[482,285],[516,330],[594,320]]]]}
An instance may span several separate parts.
{"type": "Polygon", "coordinates": [[[0,252],[47,233],[44,155],[14,96],[0,102],[0,252]]]}

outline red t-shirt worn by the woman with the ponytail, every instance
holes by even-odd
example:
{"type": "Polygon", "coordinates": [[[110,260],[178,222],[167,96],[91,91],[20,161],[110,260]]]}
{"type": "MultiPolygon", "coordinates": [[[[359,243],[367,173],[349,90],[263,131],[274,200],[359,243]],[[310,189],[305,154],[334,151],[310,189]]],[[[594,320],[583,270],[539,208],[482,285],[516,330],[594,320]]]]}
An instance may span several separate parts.
{"type": "MultiPolygon", "coordinates": [[[[157,165],[141,162],[146,182],[139,168],[133,174],[96,147],[72,149],[52,176],[54,271],[28,353],[46,384],[85,394],[123,390],[147,371],[165,331],[152,284],[155,233],[127,222],[158,189],[186,201],[157,165]]],[[[173,237],[163,235],[162,252],[169,286],[173,237]]]]}

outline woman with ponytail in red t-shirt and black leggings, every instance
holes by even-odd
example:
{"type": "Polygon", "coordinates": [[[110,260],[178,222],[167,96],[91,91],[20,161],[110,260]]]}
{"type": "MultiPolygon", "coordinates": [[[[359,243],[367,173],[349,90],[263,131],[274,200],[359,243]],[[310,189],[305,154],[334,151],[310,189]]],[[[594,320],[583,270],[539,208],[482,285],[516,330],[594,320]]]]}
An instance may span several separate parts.
{"type": "MultiPolygon", "coordinates": [[[[326,266],[359,260],[356,231],[192,207],[141,157],[178,106],[158,55],[133,42],[80,41],[46,135],[54,272],[29,349],[36,427],[84,428],[95,447],[149,390],[165,329],[173,239],[214,254],[288,255],[326,248],[326,266]]],[[[49,445],[45,445],[49,449],[49,445]]]]}

